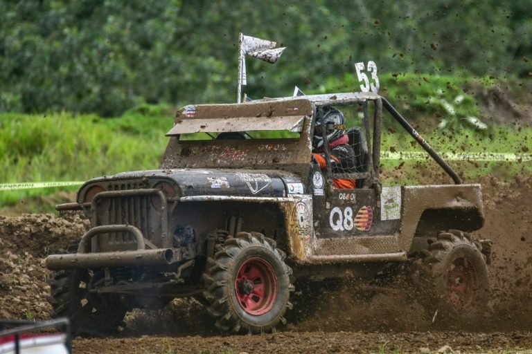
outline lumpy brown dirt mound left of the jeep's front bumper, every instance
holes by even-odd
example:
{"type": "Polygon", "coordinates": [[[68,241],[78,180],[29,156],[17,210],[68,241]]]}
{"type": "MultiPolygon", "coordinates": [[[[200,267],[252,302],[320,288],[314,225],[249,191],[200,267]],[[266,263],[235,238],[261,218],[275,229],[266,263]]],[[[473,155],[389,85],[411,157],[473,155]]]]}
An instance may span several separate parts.
{"type": "Polygon", "coordinates": [[[0,318],[48,319],[44,257],[78,239],[88,222],[53,214],[0,216],[0,318]]]}

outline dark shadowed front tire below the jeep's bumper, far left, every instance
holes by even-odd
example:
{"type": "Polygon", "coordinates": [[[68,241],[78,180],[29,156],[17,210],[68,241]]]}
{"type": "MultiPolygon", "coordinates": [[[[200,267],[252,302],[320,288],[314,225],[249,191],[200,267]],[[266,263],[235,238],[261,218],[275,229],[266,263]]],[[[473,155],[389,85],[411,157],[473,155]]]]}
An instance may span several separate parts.
{"type": "MultiPolygon", "coordinates": [[[[69,245],[69,253],[76,252],[76,245],[69,245]]],[[[75,335],[101,336],[116,331],[127,312],[125,305],[116,295],[89,293],[89,288],[103,279],[103,271],[53,272],[47,279],[51,288],[48,302],[53,308],[52,317],[68,317],[75,335]]]]}

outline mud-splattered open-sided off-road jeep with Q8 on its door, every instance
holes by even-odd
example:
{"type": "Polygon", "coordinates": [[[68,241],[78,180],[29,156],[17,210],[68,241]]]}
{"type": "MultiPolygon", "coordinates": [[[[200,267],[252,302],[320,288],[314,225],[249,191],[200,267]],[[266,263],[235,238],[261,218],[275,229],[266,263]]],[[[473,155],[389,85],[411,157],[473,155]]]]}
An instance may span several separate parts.
{"type": "Polygon", "coordinates": [[[481,187],[462,184],[384,97],[189,105],[166,135],[159,169],[94,178],[76,203],[57,205],[91,223],[69,254],[46,259],[53,315],[78,331],[114,330],[128,310],[175,297],[202,301],[225,333],[271,331],[286,322],[295,279],[346,269],[373,277],[412,259],[429,279],[423,297],[442,312],[471,318],[484,310],[489,243],[468,234],[484,223],[481,187]],[[346,174],[311,159],[315,120],[328,106],[350,128],[357,162],[346,174]],[[383,109],[454,185],[382,185],[383,109]],[[335,189],[333,178],[357,188],[335,189]]]}

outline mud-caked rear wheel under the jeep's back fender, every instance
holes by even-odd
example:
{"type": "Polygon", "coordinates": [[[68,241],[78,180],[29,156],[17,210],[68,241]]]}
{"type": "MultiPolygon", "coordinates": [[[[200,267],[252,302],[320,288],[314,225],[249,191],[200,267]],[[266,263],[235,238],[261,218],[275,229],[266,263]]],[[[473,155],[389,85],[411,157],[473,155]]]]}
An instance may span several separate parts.
{"type": "Polygon", "coordinates": [[[486,257],[478,241],[459,230],[441,232],[429,245],[423,263],[430,283],[427,310],[432,314],[438,310],[449,324],[481,319],[488,304],[489,285],[486,257]]]}

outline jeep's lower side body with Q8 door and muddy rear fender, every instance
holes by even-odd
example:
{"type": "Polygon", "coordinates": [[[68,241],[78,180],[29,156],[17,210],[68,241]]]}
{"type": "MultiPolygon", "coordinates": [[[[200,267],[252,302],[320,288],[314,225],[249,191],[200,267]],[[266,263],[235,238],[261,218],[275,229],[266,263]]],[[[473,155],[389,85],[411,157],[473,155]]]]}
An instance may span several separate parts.
{"type": "Polygon", "coordinates": [[[435,211],[431,216],[447,216],[447,219],[438,220],[442,230],[470,230],[473,226],[479,228],[484,221],[480,185],[384,187],[377,200],[374,193],[373,189],[333,192],[331,203],[326,207],[328,217],[320,220],[325,225],[319,227],[314,239],[312,256],[315,259],[373,257],[385,260],[388,255],[399,257],[406,254],[411,248],[420,218],[427,210],[435,211]],[[342,203],[338,201],[336,205],[335,196],[339,196],[342,203]],[[400,198],[400,202],[396,198],[400,198]],[[369,206],[373,206],[371,221],[369,206]],[[348,207],[351,209],[346,212],[348,207]]]}

